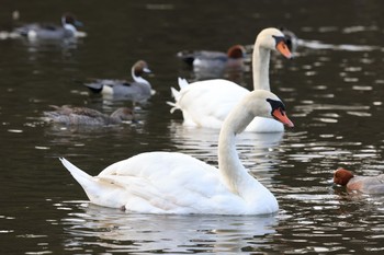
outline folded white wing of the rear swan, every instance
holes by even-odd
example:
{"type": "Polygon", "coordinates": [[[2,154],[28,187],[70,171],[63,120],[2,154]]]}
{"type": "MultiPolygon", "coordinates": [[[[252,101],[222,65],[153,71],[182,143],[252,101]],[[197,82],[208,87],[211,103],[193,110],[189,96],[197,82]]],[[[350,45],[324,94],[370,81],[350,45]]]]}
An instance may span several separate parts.
{"type": "Polygon", "coordinates": [[[248,93],[247,89],[227,80],[199,81],[182,86],[176,105],[187,125],[221,128],[230,109],[248,93]]]}

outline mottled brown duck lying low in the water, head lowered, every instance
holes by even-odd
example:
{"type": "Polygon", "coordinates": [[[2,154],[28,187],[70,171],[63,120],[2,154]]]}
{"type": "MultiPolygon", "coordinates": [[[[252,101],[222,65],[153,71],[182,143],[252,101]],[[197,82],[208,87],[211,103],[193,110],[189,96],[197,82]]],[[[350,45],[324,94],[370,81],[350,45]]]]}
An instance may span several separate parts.
{"type": "Polygon", "coordinates": [[[50,105],[55,111],[44,112],[45,120],[67,126],[109,126],[134,120],[131,108],[121,107],[110,116],[87,107],[50,105]]]}

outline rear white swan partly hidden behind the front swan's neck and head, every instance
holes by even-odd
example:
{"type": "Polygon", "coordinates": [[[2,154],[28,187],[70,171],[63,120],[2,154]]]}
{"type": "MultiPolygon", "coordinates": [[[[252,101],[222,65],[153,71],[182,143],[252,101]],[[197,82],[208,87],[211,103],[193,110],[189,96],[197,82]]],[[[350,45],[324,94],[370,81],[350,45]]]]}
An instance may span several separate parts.
{"type": "MultiPolygon", "coordinates": [[[[269,63],[271,50],[279,50],[286,58],[291,58],[284,34],[276,28],[266,28],[256,38],[252,55],[253,89],[268,90],[269,63]]],[[[197,81],[191,84],[179,78],[180,91],[171,88],[174,103],[169,103],[174,109],[181,109],[184,124],[188,126],[221,128],[230,109],[249,91],[231,81],[214,79],[197,81]]],[[[282,124],[258,117],[246,129],[256,132],[284,131],[282,124]]]]}

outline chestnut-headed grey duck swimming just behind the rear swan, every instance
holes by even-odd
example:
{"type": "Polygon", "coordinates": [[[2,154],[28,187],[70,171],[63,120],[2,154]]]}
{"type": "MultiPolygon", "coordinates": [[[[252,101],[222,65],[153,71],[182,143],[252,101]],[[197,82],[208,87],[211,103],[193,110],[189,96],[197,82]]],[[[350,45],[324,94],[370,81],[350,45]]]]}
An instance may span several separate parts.
{"type": "Polygon", "coordinates": [[[242,71],[246,48],[242,45],[231,46],[227,53],[213,50],[183,50],[178,57],[193,67],[193,71],[201,79],[223,77],[228,72],[242,71]]]}

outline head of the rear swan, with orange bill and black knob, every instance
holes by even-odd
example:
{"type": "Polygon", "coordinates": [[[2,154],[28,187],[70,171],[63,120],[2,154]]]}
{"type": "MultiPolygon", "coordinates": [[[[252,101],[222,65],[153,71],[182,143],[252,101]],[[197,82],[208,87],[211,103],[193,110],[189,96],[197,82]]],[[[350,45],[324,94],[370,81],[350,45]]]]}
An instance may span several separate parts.
{"type": "Polygon", "coordinates": [[[261,31],[256,38],[256,45],[270,50],[278,50],[286,58],[292,58],[292,54],[286,45],[283,32],[270,27],[261,31]]]}

